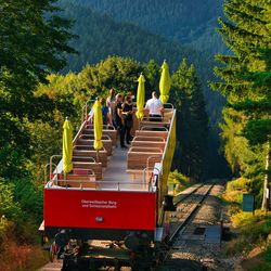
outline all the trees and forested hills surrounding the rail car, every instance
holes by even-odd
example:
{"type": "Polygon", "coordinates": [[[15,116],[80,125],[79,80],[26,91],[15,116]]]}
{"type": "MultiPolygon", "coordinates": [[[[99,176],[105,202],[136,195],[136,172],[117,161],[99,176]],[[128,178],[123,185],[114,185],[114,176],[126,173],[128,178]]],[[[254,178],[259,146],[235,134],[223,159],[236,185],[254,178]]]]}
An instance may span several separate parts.
{"type": "Polygon", "coordinates": [[[44,164],[61,153],[65,117],[76,130],[87,100],[106,96],[111,88],[136,92],[140,73],[149,98],[158,89],[164,59],[172,79],[170,101],[178,109],[172,170],[196,181],[223,170],[224,176],[227,169],[217,166],[223,163],[218,163],[220,149],[236,186],[255,193],[258,208],[266,206],[270,0],[230,0],[223,15],[222,1],[206,1],[206,7],[169,1],[167,9],[157,1],[153,18],[150,1],[141,2],[0,0],[1,270],[35,270],[44,260],[37,234],[44,164]],[[120,8],[125,12],[118,14],[120,8]],[[205,15],[193,15],[198,13],[205,15]],[[220,15],[222,39],[212,29],[220,15]],[[164,16],[170,17],[167,29],[159,25],[164,16]],[[185,22],[190,25],[178,27],[185,22]],[[201,46],[205,38],[208,48],[201,46]],[[17,255],[22,259],[12,260],[17,255]]]}

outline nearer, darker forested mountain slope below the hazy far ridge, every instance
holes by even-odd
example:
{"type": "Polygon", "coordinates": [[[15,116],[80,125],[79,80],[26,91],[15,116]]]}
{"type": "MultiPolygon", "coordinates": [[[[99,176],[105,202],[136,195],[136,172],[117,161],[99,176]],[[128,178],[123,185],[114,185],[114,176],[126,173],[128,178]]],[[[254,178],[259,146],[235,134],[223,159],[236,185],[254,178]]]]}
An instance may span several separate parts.
{"type": "MultiPolygon", "coordinates": [[[[113,7],[117,5],[120,8],[120,3],[121,1],[114,2],[113,7]]],[[[172,2],[170,1],[168,4],[168,9],[170,10],[172,9],[171,4],[172,2]]],[[[109,16],[107,13],[101,14],[94,11],[89,1],[87,3],[86,1],[62,0],[60,5],[63,9],[63,16],[74,20],[72,29],[79,36],[70,42],[79,52],[79,55],[68,56],[68,63],[64,73],[68,70],[79,72],[86,62],[94,64],[108,55],[129,56],[139,62],[149,62],[153,59],[157,63],[162,63],[163,60],[166,59],[170,64],[171,72],[178,68],[182,59],[188,59],[190,64],[193,63],[204,91],[206,111],[209,118],[207,147],[209,163],[207,163],[207,166],[209,164],[216,165],[209,167],[206,171],[209,173],[209,177],[229,175],[225,162],[222,155],[217,151],[219,149],[218,122],[221,119],[224,99],[221,94],[211,91],[208,87],[208,81],[215,79],[212,67],[216,62],[214,60],[214,53],[194,49],[190,44],[184,44],[178,40],[170,40],[168,37],[157,36],[156,33],[152,33],[150,29],[145,30],[142,26],[131,24],[130,22],[116,21],[115,17],[109,16]],[[144,37],[143,40],[142,37],[144,37]]],[[[106,7],[111,7],[111,4],[106,7]]],[[[136,8],[131,4],[127,5],[127,9],[121,10],[133,10],[136,8]]],[[[158,11],[159,10],[160,8],[158,11]]],[[[218,10],[215,11],[218,13],[218,10]]],[[[163,10],[160,10],[160,12],[163,12],[163,10]]],[[[154,20],[154,22],[156,21],[154,20]]],[[[202,21],[205,22],[204,18],[202,18],[202,21]]],[[[171,27],[170,22],[168,23],[168,27],[171,27]]],[[[192,26],[190,25],[190,27],[192,26]]],[[[211,33],[214,33],[216,37],[219,37],[215,31],[215,26],[211,33]]],[[[204,37],[206,35],[204,35],[204,37]]],[[[206,39],[208,39],[208,42],[212,40],[212,38],[207,36],[206,39]]],[[[206,44],[209,44],[209,48],[214,49],[214,46],[208,42],[206,42],[206,44]]],[[[219,48],[221,48],[221,46],[219,48]]]]}

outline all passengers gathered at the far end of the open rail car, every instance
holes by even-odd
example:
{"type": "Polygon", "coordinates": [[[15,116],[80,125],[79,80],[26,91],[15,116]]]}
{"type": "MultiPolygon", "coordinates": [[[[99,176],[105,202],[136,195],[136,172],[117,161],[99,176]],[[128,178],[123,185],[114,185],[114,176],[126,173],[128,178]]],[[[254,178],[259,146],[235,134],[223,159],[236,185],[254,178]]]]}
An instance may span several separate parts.
{"type": "MultiPolygon", "coordinates": [[[[103,125],[113,125],[119,133],[120,147],[127,149],[132,140],[131,129],[133,127],[133,103],[134,95],[130,91],[127,95],[116,94],[114,89],[109,90],[107,99],[101,98],[103,125]]],[[[145,104],[145,111],[149,112],[150,121],[162,121],[164,106],[158,100],[156,92],[152,93],[145,104]]],[[[90,112],[90,117],[93,115],[90,112]]]]}

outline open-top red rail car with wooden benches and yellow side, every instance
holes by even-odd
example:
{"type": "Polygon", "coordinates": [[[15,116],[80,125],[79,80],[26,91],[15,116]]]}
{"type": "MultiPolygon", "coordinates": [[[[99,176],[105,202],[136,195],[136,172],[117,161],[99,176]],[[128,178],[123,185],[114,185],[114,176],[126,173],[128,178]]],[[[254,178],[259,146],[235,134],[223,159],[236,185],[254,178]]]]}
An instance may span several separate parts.
{"type": "Polygon", "coordinates": [[[176,111],[170,107],[163,121],[134,119],[128,151],[115,147],[116,130],[105,127],[104,153],[100,154],[93,151],[93,129],[85,120],[74,139],[73,171],[64,176],[62,160],[56,166],[52,157],[40,230],[54,238],[51,255],[64,258],[63,270],[98,270],[111,261],[134,270],[153,266],[157,244],[167,235],[165,211],[172,208],[167,179],[175,133],[176,111]],[[96,240],[113,243],[96,253],[91,245],[96,240]],[[116,256],[117,248],[112,246],[122,256],[116,256]]]}

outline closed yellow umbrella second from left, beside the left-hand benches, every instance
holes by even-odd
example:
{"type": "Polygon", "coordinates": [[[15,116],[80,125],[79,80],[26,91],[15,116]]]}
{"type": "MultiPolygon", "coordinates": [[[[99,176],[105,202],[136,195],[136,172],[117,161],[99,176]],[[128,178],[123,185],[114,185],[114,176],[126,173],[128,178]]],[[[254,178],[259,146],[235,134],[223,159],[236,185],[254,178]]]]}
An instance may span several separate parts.
{"type": "Polygon", "coordinates": [[[95,101],[93,105],[94,114],[94,149],[96,151],[103,147],[102,136],[103,136],[103,116],[102,116],[102,106],[99,101],[95,101]]]}

